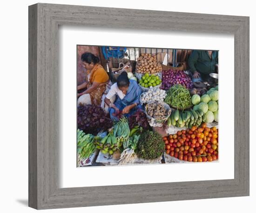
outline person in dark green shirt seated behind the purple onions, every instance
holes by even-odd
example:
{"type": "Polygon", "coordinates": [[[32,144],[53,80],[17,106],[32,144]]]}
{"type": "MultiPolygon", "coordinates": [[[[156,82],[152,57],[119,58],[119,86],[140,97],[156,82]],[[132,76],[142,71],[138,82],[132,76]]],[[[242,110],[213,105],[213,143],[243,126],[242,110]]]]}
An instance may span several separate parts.
{"type": "Polygon", "coordinates": [[[209,73],[218,72],[218,51],[193,50],[188,60],[192,81],[209,81],[209,73]]]}

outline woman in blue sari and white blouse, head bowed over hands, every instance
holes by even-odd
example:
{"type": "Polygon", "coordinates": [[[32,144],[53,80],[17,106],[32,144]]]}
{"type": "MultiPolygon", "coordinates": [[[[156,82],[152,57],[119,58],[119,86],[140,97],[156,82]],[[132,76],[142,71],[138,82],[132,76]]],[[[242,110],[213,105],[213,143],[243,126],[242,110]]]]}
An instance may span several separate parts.
{"type": "Polygon", "coordinates": [[[142,109],[140,104],[141,87],[135,80],[129,80],[126,72],[122,72],[117,82],[111,86],[105,98],[105,103],[109,106],[110,118],[113,121],[118,121],[117,114],[123,114],[129,117],[138,109],[142,109]],[[111,103],[110,99],[116,95],[115,103],[111,103]]]}

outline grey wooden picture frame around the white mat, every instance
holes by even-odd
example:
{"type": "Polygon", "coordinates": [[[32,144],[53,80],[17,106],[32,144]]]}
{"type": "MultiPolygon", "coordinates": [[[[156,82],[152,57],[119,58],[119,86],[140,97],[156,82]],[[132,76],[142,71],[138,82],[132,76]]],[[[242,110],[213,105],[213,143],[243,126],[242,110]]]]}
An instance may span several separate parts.
{"type": "Polygon", "coordinates": [[[49,209],[249,195],[249,17],[39,3],[29,6],[28,18],[30,207],[49,209]],[[59,25],[234,34],[235,178],[60,188],[59,25]]]}

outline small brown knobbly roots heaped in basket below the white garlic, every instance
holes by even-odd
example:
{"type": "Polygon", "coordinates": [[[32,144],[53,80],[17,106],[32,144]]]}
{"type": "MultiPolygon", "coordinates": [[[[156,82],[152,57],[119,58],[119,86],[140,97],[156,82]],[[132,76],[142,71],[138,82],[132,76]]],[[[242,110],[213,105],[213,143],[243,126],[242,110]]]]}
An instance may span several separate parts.
{"type": "Polygon", "coordinates": [[[147,104],[147,113],[150,117],[161,120],[168,116],[169,109],[166,109],[163,104],[158,101],[147,104]]]}

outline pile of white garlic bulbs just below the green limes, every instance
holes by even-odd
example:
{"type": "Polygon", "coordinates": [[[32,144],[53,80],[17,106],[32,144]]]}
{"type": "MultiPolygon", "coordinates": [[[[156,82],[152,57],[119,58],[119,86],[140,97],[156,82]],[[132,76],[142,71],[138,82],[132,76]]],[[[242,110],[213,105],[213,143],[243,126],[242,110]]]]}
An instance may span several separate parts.
{"type": "Polygon", "coordinates": [[[163,101],[166,97],[165,90],[159,88],[150,88],[147,92],[141,94],[141,104],[146,104],[150,101],[163,101]]]}

